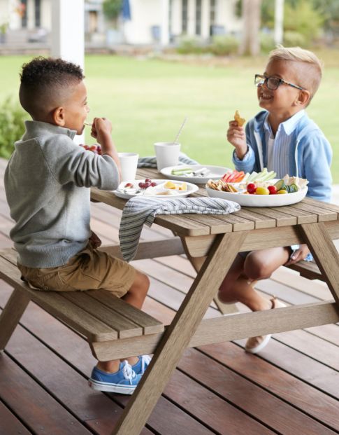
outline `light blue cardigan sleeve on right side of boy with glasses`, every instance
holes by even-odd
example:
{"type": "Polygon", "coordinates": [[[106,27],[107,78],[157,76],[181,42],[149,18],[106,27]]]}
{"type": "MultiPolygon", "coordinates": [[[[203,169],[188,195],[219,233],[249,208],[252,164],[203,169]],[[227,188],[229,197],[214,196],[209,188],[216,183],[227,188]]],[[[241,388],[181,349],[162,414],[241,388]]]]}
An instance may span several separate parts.
{"type": "Polygon", "coordinates": [[[308,179],[308,197],[331,201],[331,159],[331,145],[322,132],[308,134],[303,144],[303,177],[308,179]]]}

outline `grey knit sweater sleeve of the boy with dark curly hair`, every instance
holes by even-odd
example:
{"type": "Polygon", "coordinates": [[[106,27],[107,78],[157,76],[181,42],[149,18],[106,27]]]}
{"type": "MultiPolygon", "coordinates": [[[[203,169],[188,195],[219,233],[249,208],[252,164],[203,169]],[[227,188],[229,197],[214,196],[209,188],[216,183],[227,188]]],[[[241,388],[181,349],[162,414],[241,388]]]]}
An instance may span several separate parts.
{"type": "Polygon", "coordinates": [[[51,137],[41,148],[50,172],[60,184],[95,186],[113,190],[119,185],[117,165],[110,156],[99,156],[76,145],[69,137],[51,137]]]}

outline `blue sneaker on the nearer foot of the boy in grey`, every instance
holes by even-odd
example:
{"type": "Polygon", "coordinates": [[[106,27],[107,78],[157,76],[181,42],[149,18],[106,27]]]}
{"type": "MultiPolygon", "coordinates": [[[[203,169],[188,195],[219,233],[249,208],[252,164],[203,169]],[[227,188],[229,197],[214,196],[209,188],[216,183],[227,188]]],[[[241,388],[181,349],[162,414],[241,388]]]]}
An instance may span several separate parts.
{"type": "Polygon", "coordinates": [[[88,385],[99,391],[133,394],[140,378],[141,375],[136,375],[128,361],[124,361],[120,364],[120,369],[115,373],[106,373],[94,367],[88,385]]]}

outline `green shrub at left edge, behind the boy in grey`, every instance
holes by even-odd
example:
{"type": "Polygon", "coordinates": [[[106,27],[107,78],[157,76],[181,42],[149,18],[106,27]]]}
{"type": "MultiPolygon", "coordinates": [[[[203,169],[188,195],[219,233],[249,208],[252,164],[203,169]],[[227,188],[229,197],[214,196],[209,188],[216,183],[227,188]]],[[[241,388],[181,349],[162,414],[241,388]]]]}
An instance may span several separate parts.
{"type": "Polygon", "coordinates": [[[0,106],[0,157],[9,158],[14,142],[24,134],[27,113],[8,97],[0,106]]]}

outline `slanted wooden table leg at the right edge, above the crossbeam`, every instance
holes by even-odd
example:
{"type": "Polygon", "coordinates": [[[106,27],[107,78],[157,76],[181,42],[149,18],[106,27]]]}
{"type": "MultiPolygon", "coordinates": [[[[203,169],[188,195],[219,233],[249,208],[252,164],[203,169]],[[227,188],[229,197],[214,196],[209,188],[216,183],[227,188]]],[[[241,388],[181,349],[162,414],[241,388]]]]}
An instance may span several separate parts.
{"type": "Polygon", "coordinates": [[[305,223],[301,225],[312,255],[324,275],[333,298],[339,305],[339,254],[324,223],[305,223]]]}

